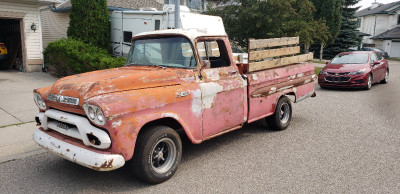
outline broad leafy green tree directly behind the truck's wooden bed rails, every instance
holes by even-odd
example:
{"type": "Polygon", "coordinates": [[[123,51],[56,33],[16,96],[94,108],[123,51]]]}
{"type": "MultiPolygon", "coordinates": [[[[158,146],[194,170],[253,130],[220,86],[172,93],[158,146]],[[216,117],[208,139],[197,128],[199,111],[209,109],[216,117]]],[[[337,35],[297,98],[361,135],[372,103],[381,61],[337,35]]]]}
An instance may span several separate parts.
{"type": "Polygon", "coordinates": [[[313,4],[309,0],[239,0],[223,10],[209,9],[208,14],[221,16],[230,38],[246,47],[248,38],[279,38],[300,36],[300,43],[314,43],[317,28],[324,23],[314,20],[313,4]]]}

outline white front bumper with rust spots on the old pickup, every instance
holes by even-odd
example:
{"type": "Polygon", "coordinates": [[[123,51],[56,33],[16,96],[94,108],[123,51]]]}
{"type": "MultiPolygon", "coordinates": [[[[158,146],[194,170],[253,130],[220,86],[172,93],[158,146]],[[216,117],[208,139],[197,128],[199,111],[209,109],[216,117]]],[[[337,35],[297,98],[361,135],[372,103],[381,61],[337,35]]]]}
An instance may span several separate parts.
{"type": "Polygon", "coordinates": [[[61,141],[40,129],[33,133],[33,139],[40,146],[61,157],[94,170],[111,171],[125,164],[125,159],[122,155],[96,153],[61,141]]]}

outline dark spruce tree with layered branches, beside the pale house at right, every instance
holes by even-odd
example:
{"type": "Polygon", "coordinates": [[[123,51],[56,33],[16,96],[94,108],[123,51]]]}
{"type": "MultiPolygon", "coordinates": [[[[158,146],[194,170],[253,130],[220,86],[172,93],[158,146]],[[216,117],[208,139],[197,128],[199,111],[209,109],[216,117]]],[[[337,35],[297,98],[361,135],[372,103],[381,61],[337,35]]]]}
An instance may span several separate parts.
{"type": "Polygon", "coordinates": [[[342,25],[335,42],[325,49],[327,57],[333,58],[335,55],[348,51],[351,47],[357,47],[361,38],[358,36],[357,20],[354,14],[359,7],[353,7],[359,0],[344,0],[342,25]]]}

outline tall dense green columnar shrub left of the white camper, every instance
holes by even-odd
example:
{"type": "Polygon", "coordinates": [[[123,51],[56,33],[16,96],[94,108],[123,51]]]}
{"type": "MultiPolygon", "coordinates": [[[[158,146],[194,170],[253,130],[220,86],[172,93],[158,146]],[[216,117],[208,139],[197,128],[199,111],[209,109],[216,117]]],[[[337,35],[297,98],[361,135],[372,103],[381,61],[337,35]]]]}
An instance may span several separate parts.
{"type": "Polygon", "coordinates": [[[71,0],[67,35],[109,50],[110,21],[106,0],[71,0]]]}

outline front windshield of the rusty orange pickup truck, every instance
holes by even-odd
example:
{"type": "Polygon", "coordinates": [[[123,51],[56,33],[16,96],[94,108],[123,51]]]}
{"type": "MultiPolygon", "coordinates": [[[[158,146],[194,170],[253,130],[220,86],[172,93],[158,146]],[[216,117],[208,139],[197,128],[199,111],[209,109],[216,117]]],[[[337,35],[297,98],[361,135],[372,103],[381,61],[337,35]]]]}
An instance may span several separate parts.
{"type": "Polygon", "coordinates": [[[164,37],[133,41],[125,66],[195,68],[197,63],[189,40],[164,37]]]}

